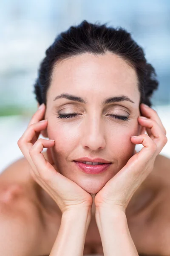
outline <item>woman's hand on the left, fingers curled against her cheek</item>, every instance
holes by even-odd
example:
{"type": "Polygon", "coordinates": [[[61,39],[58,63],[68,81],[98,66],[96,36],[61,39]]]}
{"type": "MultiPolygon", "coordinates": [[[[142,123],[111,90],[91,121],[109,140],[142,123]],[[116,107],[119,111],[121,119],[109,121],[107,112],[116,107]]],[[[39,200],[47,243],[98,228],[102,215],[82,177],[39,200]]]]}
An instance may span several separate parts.
{"type": "Polygon", "coordinates": [[[18,146],[30,164],[30,175],[54,199],[63,212],[72,209],[89,209],[93,203],[92,196],[57,171],[43,154],[43,148],[51,148],[54,140],[38,139],[40,132],[47,127],[48,121],[42,120],[45,105],[38,109],[31,118],[28,128],[18,140],[18,146]],[[40,121],[42,120],[42,122],[40,121]]]}

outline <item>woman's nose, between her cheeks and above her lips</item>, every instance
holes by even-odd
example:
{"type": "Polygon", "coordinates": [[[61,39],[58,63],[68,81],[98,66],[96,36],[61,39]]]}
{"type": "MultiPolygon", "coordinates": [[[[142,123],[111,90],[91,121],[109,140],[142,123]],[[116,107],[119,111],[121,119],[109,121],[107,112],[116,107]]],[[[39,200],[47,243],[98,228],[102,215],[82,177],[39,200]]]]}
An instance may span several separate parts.
{"type": "Polygon", "coordinates": [[[83,148],[89,148],[93,151],[105,148],[105,132],[103,130],[101,119],[91,117],[91,119],[87,120],[83,130],[83,148]]]}

